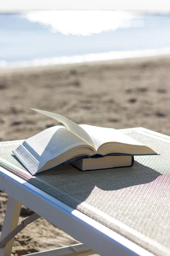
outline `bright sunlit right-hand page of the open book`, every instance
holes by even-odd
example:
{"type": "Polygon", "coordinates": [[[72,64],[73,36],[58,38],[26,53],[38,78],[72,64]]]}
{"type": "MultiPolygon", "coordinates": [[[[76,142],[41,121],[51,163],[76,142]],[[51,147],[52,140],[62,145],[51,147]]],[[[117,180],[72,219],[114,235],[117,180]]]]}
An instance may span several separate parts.
{"type": "Polygon", "coordinates": [[[127,135],[113,129],[113,128],[103,128],[92,125],[79,125],[82,127],[91,137],[94,143],[95,149],[99,148],[104,143],[114,142],[114,143],[124,143],[130,145],[143,145],[142,143],[133,140],[127,135]]]}

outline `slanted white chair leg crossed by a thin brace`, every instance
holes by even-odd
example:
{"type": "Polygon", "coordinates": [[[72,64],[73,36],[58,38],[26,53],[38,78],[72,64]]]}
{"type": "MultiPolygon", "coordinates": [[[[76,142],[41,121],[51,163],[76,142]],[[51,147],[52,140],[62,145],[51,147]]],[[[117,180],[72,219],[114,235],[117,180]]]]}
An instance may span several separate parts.
{"type": "MultiPolygon", "coordinates": [[[[14,228],[17,227],[18,219],[20,216],[22,204],[12,198],[8,197],[8,204],[6,207],[5,218],[1,232],[0,241],[2,241],[14,228]]],[[[13,246],[14,238],[11,239],[3,248],[0,249],[0,256],[10,256],[13,246]]]]}

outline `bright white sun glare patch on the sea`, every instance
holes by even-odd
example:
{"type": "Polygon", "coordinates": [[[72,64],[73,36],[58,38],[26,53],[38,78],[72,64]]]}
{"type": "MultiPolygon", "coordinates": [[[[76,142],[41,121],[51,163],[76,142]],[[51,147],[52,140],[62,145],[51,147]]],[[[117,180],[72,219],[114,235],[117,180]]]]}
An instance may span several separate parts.
{"type": "Polygon", "coordinates": [[[24,15],[32,22],[50,26],[64,35],[92,35],[117,28],[142,27],[142,16],[116,11],[43,11],[24,15]]]}

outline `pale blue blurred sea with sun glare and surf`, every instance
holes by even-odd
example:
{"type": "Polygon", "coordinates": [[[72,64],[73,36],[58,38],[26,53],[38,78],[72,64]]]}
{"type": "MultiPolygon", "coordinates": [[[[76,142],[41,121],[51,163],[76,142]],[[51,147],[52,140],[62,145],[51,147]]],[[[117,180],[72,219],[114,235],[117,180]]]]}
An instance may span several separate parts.
{"type": "Polygon", "coordinates": [[[56,15],[1,14],[0,68],[170,54],[170,15],[89,15],[84,23],[56,15]]]}

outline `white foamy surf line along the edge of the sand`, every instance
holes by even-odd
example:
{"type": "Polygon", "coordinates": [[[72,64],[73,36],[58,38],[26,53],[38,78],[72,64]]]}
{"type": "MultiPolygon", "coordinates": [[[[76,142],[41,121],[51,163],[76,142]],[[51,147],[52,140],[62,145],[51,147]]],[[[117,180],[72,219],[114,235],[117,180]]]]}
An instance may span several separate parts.
{"type": "Polygon", "coordinates": [[[5,60],[1,60],[0,69],[74,64],[74,63],[85,63],[85,62],[94,62],[94,61],[107,61],[107,60],[126,59],[126,58],[159,56],[159,55],[168,55],[168,54],[170,54],[170,47],[162,48],[162,49],[147,49],[147,50],[134,50],[134,51],[116,51],[116,52],[112,51],[112,52],[104,52],[104,53],[76,55],[71,57],[42,58],[42,59],[34,59],[32,61],[8,62],[5,60]]]}

